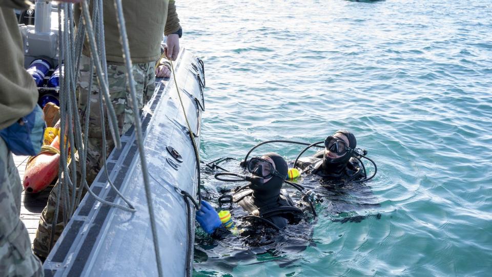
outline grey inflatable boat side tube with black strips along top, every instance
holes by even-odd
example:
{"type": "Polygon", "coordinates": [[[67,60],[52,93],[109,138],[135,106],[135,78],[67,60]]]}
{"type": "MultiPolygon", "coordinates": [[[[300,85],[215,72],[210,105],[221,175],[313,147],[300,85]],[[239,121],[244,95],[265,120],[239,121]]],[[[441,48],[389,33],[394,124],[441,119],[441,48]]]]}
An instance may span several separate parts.
{"type": "MultiPolygon", "coordinates": [[[[181,100],[199,147],[204,107],[203,67],[187,50],[182,50],[173,64],[181,100]]],[[[156,82],[153,98],[142,113],[142,130],[160,263],[167,276],[185,276],[188,245],[193,245],[193,241],[188,242],[187,206],[180,191],[196,197],[198,172],[188,125],[172,78],[156,82]]],[[[109,155],[107,169],[115,187],[134,205],[136,212],[101,204],[86,193],[43,265],[45,276],[157,276],[133,128],[121,137],[121,143],[122,147],[109,155]]],[[[104,169],[91,189],[103,199],[122,203],[108,185],[104,169]]],[[[191,211],[194,222],[194,209],[191,211]]],[[[194,238],[194,223],[191,232],[194,238]]]]}

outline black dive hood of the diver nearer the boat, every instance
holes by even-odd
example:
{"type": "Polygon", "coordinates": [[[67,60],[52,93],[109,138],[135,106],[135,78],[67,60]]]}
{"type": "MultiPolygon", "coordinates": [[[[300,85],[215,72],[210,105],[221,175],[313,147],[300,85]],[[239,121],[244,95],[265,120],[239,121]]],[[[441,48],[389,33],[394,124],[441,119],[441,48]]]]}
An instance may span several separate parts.
{"type": "MultiPolygon", "coordinates": [[[[263,156],[270,157],[275,163],[275,168],[282,176],[287,176],[289,170],[287,163],[277,153],[267,153],[263,156]]],[[[253,190],[253,202],[258,207],[271,205],[277,202],[280,195],[280,189],[282,188],[283,180],[281,177],[274,175],[268,182],[252,182],[250,188],[253,190]]]]}

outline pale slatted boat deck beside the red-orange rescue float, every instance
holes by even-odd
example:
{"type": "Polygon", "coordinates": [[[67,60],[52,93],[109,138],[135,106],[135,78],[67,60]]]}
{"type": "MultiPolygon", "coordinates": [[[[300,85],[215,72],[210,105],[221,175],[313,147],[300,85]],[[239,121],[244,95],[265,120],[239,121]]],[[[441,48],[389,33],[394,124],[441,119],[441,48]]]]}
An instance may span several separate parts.
{"type": "MultiPolygon", "coordinates": [[[[14,162],[17,170],[19,171],[20,180],[24,179],[24,171],[26,170],[27,156],[16,156],[14,155],[14,162]]],[[[48,201],[48,196],[50,194],[51,188],[49,186],[44,191],[36,194],[28,194],[24,191],[22,192],[21,202],[20,202],[20,220],[26,225],[27,231],[29,232],[29,238],[31,239],[31,244],[34,240],[36,234],[37,225],[39,223],[39,216],[46,206],[46,201],[48,201]]]]}

